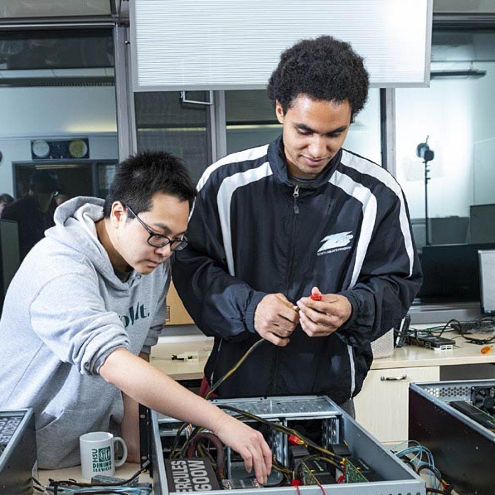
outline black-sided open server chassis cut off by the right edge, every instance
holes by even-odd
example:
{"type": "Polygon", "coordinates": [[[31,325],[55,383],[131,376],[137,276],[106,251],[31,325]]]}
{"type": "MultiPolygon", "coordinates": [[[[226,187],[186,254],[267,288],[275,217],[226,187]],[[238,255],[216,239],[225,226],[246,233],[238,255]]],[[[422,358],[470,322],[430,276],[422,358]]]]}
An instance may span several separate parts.
{"type": "Polygon", "coordinates": [[[448,404],[470,400],[471,387],[495,380],[461,380],[409,385],[409,438],[428,447],[435,465],[456,493],[495,493],[495,434],[448,404]]]}

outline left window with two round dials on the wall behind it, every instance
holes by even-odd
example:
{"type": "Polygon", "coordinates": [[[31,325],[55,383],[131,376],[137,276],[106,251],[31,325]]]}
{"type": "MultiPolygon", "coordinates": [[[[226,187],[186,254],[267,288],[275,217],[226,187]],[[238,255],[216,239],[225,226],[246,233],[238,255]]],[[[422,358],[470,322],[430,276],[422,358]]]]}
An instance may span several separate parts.
{"type": "MultiPolygon", "coordinates": [[[[67,197],[106,196],[118,160],[114,62],[108,25],[0,29],[0,193],[20,199],[31,174],[48,170],[60,194],[41,199],[32,193],[34,211],[43,212],[43,223],[35,224],[41,233],[67,197]]],[[[17,242],[22,220],[3,220],[1,243],[8,249],[0,253],[0,307],[19,260],[32,247],[17,242]]],[[[31,227],[24,224],[23,231],[31,227]]]]}

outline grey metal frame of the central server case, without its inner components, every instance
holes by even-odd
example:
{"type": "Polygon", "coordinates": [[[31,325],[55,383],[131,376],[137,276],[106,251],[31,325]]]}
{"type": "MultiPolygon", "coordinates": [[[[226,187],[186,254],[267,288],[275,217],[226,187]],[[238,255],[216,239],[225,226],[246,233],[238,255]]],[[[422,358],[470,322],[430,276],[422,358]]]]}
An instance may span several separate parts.
{"type": "MultiPolygon", "coordinates": [[[[425,482],[408,466],[386,450],[368,432],[363,430],[349,415],[326,396],[269,397],[249,399],[225,399],[214,404],[248,411],[264,419],[278,420],[290,426],[293,420],[325,420],[324,442],[347,442],[354,457],[367,462],[385,481],[323,485],[327,495],[426,495],[425,482]]],[[[151,456],[153,465],[153,489],[155,495],[168,495],[167,479],[163,461],[161,437],[173,435],[180,422],[173,418],[151,412],[151,456]]],[[[281,459],[286,459],[287,443],[276,441],[272,449],[281,459]]],[[[299,487],[301,495],[321,495],[318,486],[299,487]]],[[[293,495],[294,487],[229,490],[232,495],[293,495]]],[[[206,492],[200,492],[205,493],[206,492]]],[[[226,495],[225,490],[211,491],[208,495],[226,495]]]]}

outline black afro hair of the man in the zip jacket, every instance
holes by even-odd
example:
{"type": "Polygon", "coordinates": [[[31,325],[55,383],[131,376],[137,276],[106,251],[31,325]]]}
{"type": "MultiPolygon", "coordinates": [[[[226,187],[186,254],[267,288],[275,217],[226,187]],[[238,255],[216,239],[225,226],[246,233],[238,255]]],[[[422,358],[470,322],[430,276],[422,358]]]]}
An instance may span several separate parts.
{"type": "Polygon", "coordinates": [[[287,111],[299,94],[315,100],[348,100],[354,117],[366,103],[369,76],[360,57],[332,36],[303,39],[280,55],[266,88],[275,105],[287,111]]]}

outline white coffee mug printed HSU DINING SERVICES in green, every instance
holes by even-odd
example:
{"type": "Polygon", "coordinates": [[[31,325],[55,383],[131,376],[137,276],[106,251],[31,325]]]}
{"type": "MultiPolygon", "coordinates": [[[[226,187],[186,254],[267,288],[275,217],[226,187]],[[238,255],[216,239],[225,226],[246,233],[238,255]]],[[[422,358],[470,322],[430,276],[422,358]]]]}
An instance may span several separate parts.
{"type": "Polygon", "coordinates": [[[120,437],[107,432],[85,433],[79,437],[81,451],[81,471],[85,480],[93,476],[114,476],[115,468],[122,466],[127,459],[127,446],[120,437]],[[123,449],[122,459],[115,459],[115,444],[120,442],[123,449]]]}

